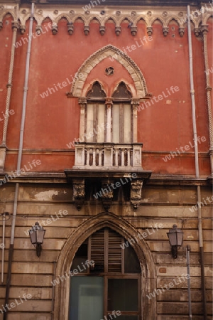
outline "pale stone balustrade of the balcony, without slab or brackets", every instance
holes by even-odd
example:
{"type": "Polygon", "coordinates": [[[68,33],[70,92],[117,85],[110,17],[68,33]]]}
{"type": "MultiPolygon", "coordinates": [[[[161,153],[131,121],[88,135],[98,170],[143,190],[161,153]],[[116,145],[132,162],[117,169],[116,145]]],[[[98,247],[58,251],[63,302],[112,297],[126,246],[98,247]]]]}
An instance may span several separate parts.
{"type": "Polygon", "coordinates": [[[73,169],[135,171],[142,169],[141,148],[143,144],[91,144],[75,145],[73,169]]]}

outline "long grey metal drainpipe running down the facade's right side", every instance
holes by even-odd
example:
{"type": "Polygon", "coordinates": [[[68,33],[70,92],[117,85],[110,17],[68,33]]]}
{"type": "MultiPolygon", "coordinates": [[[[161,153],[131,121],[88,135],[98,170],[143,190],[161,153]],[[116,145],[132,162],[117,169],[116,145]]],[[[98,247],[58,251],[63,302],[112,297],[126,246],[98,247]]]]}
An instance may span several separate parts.
{"type": "MultiPolygon", "coordinates": [[[[190,94],[192,99],[192,124],[193,124],[193,135],[195,141],[195,174],[196,178],[199,178],[199,159],[198,159],[198,148],[197,148],[197,126],[196,126],[196,113],[195,113],[195,88],[194,88],[194,77],[193,77],[193,60],[192,60],[192,34],[190,25],[190,6],[187,6],[187,29],[188,29],[188,40],[189,40],[189,58],[190,58],[190,94]]],[[[201,202],[200,186],[197,186],[197,202],[201,202]]],[[[203,250],[203,235],[202,235],[202,213],[201,207],[197,205],[198,215],[198,235],[200,245],[200,268],[201,268],[201,283],[202,283],[202,303],[203,303],[203,316],[204,320],[207,320],[207,299],[205,294],[205,279],[204,279],[204,250],[203,250]]]]}

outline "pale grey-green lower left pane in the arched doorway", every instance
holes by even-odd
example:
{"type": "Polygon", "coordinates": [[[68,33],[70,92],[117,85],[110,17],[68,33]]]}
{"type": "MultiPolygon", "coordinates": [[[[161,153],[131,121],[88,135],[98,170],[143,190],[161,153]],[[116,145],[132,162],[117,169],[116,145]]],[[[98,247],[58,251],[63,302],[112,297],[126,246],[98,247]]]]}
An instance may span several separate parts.
{"type": "Polygon", "coordinates": [[[104,314],[104,278],[72,277],[70,279],[69,320],[100,320],[104,314]]]}

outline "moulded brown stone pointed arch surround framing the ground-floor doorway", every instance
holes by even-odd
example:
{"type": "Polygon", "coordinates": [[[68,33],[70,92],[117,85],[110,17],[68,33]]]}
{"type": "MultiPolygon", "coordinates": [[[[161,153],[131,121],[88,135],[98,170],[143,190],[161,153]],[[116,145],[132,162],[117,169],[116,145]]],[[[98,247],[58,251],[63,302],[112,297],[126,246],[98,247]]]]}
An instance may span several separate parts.
{"type": "MultiPolygon", "coordinates": [[[[55,277],[69,274],[72,260],[82,242],[102,228],[111,228],[127,240],[137,238],[138,230],[123,218],[114,213],[99,213],[85,220],[77,229],[72,231],[58,257],[55,277]]],[[[142,238],[142,237],[141,237],[142,238]]],[[[148,299],[146,294],[155,289],[156,275],[153,257],[143,238],[134,244],[134,250],[141,265],[141,299],[143,319],[155,320],[155,299],[148,299]]],[[[69,311],[70,281],[60,282],[55,287],[54,320],[67,320],[69,311]]]]}

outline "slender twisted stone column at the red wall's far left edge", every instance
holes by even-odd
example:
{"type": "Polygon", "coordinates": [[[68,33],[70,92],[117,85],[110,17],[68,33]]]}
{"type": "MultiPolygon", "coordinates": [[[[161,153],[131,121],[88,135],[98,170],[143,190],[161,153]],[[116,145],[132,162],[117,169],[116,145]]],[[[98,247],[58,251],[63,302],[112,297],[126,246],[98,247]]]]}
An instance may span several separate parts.
{"type": "MultiPolygon", "coordinates": [[[[18,4],[16,5],[16,19],[18,19],[18,4]]],[[[6,85],[6,107],[5,107],[5,119],[4,119],[4,128],[3,128],[3,135],[2,135],[2,142],[1,147],[4,148],[4,156],[2,161],[2,169],[4,169],[4,161],[6,156],[6,132],[9,122],[9,107],[11,104],[11,90],[12,90],[12,79],[13,79],[13,66],[14,66],[14,58],[15,58],[15,50],[16,50],[16,36],[17,36],[17,30],[18,30],[18,21],[13,21],[12,23],[12,29],[13,29],[13,37],[12,37],[12,44],[11,44],[11,60],[10,60],[10,66],[9,66],[9,79],[8,83],[6,85]]]]}

